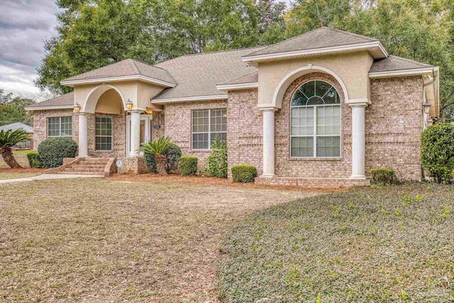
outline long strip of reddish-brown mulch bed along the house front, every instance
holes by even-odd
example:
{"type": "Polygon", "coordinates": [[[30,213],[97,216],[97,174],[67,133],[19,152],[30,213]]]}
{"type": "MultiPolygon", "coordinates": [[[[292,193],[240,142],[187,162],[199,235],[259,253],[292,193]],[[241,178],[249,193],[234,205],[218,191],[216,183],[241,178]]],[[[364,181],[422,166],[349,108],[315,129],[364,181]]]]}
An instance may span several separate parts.
{"type": "Polygon", "coordinates": [[[167,176],[160,176],[157,174],[122,174],[113,175],[112,180],[124,181],[124,182],[139,182],[139,183],[155,183],[155,184],[166,184],[166,183],[180,183],[188,185],[209,185],[209,186],[221,186],[221,187],[235,187],[242,189],[275,189],[275,190],[292,190],[299,192],[346,192],[348,189],[345,188],[331,188],[331,189],[307,189],[304,187],[294,186],[272,186],[251,183],[236,183],[226,178],[218,177],[206,177],[206,176],[182,176],[176,174],[169,174],[167,176]]]}

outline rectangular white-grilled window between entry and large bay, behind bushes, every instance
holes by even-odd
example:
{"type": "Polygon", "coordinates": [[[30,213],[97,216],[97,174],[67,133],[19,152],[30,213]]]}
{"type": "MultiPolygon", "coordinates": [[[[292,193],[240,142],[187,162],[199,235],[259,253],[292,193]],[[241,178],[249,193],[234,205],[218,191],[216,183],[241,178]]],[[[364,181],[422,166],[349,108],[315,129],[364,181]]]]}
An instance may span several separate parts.
{"type": "Polygon", "coordinates": [[[227,109],[192,111],[192,149],[208,150],[216,135],[227,140],[227,109]]]}

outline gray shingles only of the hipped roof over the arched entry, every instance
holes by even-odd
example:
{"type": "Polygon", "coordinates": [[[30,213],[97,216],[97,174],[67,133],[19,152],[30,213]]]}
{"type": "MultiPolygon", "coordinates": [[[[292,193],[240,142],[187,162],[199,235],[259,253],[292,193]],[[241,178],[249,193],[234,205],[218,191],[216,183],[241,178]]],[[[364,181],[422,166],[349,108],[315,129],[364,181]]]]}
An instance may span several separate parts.
{"type": "Polygon", "coordinates": [[[96,70],[91,70],[89,72],[84,72],[83,74],[76,75],[74,77],[67,78],[63,81],[75,81],[75,80],[86,80],[86,79],[96,79],[104,77],[121,77],[121,76],[133,76],[133,75],[142,75],[145,77],[150,77],[154,79],[159,79],[165,82],[172,84],[177,84],[175,79],[167,72],[162,70],[162,68],[149,65],[145,62],[140,62],[138,60],[126,59],[120,62],[116,62],[111,65],[106,65],[104,67],[99,67],[96,70]]]}

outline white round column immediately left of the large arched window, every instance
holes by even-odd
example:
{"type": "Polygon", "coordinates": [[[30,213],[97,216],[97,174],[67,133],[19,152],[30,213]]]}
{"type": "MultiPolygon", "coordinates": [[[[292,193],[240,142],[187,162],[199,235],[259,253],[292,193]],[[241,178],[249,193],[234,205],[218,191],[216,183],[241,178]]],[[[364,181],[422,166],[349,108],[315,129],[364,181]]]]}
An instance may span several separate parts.
{"type": "Polygon", "coordinates": [[[275,175],[275,110],[263,111],[263,174],[262,177],[275,175]]]}

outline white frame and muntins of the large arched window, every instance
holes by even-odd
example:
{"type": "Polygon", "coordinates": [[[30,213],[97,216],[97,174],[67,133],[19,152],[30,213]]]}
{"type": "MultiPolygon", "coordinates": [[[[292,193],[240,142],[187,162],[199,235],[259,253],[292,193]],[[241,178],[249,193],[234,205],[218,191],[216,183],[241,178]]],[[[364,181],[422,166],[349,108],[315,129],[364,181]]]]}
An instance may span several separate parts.
{"type": "Polygon", "coordinates": [[[331,83],[326,80],[322,79],[314,79],[308,82],[305,82],[295,90],[294,94],[292,95],[292,98],[290,99],[290,114],[289,114],[289,132],[290,132],[290,139],[289,139],[289,155],[290,158],[292,159],[341,159],[342,158],[342,100],[341,100],[341,95],[339,94],[338,90],[336,87],[331,83]],[[303,86],[306,83],[312,82],[312,81],[321,81],[321,82],[326,82],[330,84],[337,92],[338,97],[339,97],[339,103],[338,104],[317,104],[317,105],[300,105],[300,106],[292,106],[292,100],[293,100],[293,95],[299,90],[301,86],[303,86]],[[327,106],[339,106],[341,109],[341,127],[340,127],[340,134],[333,136],[333,135],[317,135],[317,109],[319,107],[327,107],[327,106]],[[306,135],[306,136],[301,136],[301,135],[292,135],[292,109],[297,109],[297,108],[308,108],[308,107],[313,107],[314,108],[314,133],[311,135],[306,135]],[[310,138],[312,137],[314,140],[314,151],[313,151],[313,156],[312,157],[304,157],[304,156],[294,156],[292,155],[292,138],[310,138]],[[334,157],[317,157],[317,137],[339,137],[339,155],[334,156],[334,157]]]}

